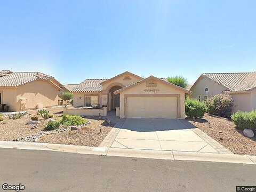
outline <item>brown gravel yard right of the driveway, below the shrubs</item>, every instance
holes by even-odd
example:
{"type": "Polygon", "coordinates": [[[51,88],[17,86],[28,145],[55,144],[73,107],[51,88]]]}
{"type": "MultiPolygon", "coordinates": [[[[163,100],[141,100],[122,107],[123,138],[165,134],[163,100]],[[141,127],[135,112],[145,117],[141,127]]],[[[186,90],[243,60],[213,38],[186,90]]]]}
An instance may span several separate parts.
{"type": "Polygon", "coordinates": [[[201,119],[187,119],[234,154],[256,155],[256,138],[245,137],[242,131],[236,129],[233,122],[208,114],[201,119]],[[220,131],[222,131],[223,140],[220,139],[220,131]]]}

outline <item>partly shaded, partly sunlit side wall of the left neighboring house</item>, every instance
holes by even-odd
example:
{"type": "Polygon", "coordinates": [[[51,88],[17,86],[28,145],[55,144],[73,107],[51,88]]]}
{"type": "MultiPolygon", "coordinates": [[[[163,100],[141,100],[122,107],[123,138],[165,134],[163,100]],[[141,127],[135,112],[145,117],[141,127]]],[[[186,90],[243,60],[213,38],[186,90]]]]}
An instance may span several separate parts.
{"type": "Polygon", "coordinates": [[[25,109],[35,109],[40,103],[43,107],[57,106],[60,90],[48,81],[37,80],[17,87],[17,106],[21,109],[21,99],[26,102],[25,109]]]}

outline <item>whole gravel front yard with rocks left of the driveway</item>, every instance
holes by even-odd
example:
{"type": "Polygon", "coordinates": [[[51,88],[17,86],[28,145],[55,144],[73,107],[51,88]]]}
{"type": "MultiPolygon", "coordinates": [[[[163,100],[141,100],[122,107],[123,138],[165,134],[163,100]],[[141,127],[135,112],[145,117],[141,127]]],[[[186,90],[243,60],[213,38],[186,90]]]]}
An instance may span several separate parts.
{"type": "MultiPolygon", "coordinates": [[[[53,114],[51,119],[60,122],[62,115],[53,114]]],[[[18,119],[3,116],[3,121],[0,121],[0,140],[99,146],[111,130],[113,124],[108,121],[98,120],[98,117],[84,119],[86,120],[86,124],[77,127],[60,124],[57,129],[46,131],[44,129],[47,123],[54,120],[39,117],[39,123],[34,125],[27,124],[31,120],[31,115],[29,114],[18,119]]]]}

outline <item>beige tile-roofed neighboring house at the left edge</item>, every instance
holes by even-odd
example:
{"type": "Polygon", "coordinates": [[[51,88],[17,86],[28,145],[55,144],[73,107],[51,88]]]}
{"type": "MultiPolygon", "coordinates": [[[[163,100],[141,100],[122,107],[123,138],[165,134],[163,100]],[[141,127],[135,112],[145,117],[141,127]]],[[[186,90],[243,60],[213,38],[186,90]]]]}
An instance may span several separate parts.
{"type": "Polygon", "coordinates": [[[68,90],[52,76],[0,70],[0,103],[8,105],[9,111],[58,106],[62,91],[68,90]]]}

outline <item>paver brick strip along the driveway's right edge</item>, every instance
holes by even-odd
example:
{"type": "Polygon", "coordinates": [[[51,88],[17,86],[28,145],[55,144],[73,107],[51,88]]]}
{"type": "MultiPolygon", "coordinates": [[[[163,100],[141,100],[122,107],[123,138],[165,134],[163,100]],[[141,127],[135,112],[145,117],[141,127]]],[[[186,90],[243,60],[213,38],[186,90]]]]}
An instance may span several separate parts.
{"type": "Polygon", "coordinates": [[[194,133],[196,133],[199,137],[201,137],[203,140],[205,140],[207,143],[209,143],[210,146],[212,146],[215,150],[218,151],[220,154],[233,154],[230,150],[228,150],[226,147],[222,146],[218,141],[215,141],[213,138],[211,138],[209,135],[207,135],[205,132],[198,128],[191,129],[194,133]]]}

